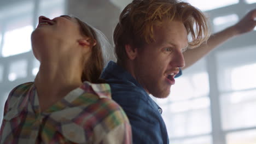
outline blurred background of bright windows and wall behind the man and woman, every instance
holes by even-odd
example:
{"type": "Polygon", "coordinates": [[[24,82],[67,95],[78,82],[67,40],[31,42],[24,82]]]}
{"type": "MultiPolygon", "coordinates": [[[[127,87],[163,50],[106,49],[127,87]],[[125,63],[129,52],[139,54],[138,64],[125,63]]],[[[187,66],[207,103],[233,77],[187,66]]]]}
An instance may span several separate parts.
{"type": "MultiPolygon", "coordinates": [[[[38,16],[74,15],[112,42],[118,16],[131,0],[0,0],[0,124],[10,90],[33,81],[39,62],[30,35],[38,16]]],[[[256,0],[187,0],[210,17],[212,32],[240,20],[256,0]]],[[[183,71],[162,109],[170,143],[256,143],[256,28],[229,40],[183,71]]],[[[114,57],[114,56],[113,56],[114,57]]]]}

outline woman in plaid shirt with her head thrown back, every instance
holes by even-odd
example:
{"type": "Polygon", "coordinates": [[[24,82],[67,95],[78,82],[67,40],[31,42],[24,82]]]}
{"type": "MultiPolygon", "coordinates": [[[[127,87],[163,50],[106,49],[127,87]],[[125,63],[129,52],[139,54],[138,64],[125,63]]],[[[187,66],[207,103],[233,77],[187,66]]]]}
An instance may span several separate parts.
{"type": "Polygon", "coordinates": [[[40,68],[10,92],[1,143],[131,143],[124,111],[98,80],[102,38],[76,17],[39,17],[31,41],[40,68]]]}

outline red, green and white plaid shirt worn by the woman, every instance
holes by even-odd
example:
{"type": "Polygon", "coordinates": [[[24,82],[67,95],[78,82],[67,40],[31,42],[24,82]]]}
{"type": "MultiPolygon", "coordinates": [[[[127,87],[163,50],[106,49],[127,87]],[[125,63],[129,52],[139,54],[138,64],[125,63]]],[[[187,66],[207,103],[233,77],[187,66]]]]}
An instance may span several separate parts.
{"type": "Polygon", "coordinates": [[[106,83],[84,82],[40,112],[36,87],[28,82],[9,94],[0,143],[132,143],[131,126],[106,83]]]}

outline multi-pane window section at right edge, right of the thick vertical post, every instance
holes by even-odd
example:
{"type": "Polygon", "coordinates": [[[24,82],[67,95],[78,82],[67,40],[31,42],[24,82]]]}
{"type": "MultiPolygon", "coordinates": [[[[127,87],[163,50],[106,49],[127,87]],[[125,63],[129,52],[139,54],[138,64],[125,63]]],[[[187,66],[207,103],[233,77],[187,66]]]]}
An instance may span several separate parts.
{"type": "Polygon", "coordinates": [[[227,143],[256,142],[255,129],[243,130],[256,127],[255,53],[254,45],[217,54],[222,128],[230,131],[227,143]]]}

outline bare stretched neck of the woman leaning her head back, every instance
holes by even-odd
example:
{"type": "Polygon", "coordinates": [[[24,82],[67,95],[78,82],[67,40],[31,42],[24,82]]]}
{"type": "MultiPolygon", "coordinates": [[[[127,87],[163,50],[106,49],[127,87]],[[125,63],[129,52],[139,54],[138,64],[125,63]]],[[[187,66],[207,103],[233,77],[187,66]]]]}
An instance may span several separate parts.
{"type": "Polygon", "coordinates": [[[42,111],[82,85],[80,65],[69,60],[41,62],[35,85],[42,111]]]}

